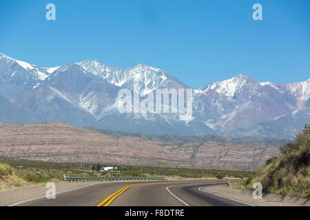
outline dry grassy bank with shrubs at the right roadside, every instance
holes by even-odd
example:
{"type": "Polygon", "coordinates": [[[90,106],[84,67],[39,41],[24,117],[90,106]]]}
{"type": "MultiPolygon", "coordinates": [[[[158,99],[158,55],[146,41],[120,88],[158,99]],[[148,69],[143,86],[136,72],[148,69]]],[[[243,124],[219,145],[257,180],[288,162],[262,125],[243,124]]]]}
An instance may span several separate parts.
{"type": "Polygon", "coordinates": [[[247,187],[260,182],[265,192],[310,198],[310,126],[306,125],[293,142],[281,148],[282,155],[267,160],[252,173],[247,187]]]}

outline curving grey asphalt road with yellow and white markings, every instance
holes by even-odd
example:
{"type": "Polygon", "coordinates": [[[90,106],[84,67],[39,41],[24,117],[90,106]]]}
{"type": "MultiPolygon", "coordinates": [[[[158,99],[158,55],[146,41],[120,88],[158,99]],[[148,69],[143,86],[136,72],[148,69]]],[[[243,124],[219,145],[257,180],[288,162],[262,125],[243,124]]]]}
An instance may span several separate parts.
{"type": "Polygon", "coordinates": [[[17,206],[247,206],[200,190],[225,181],[140,181],[94,184],[17,206]]]}

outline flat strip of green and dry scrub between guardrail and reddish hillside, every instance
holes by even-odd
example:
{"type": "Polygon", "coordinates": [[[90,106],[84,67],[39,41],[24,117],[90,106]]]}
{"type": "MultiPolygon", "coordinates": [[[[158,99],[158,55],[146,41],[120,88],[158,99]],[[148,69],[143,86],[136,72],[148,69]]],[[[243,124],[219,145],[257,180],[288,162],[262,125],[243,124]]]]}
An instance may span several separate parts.
{"type": "Polygon", "coordinates": [[[49,181],[63,181],[67,177],[147,177],[165,175],[165,177],[183,178],[246,178],[247,171],[239,170],[207,170],[198,168],[163,168],[155,166],[134,166],[119,164],[36,162],[25,159],[0,157],[0,190],[20,187],[38,186],[49,181]],[[116,166],[119,172],[96,171],[103,166],[116,166]]]}

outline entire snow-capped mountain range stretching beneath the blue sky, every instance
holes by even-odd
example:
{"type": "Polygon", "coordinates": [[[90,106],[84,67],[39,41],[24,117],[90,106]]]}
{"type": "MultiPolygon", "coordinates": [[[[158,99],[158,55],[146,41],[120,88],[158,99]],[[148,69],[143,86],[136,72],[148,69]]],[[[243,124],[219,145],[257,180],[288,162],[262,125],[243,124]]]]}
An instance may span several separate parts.
{"type": "MultiPolygon", "coordinates": [[[[189,88],[162,69],[142,64],[123,69],[83,61],[46,68],[0,54],[2,109],[23,112],[29,119],[14,122],[53,120],[132,132],[285,138],[310,124],[310,79],[275,84],[239,74],[211,83],[194,89],[193,115],[187,120],[180,120],[180,113],[120,113],[118,91],[136,93],[136,83],[141,95],[189,88]]],[[[14,115],[6,118],[10,122],[14,115]]]]}

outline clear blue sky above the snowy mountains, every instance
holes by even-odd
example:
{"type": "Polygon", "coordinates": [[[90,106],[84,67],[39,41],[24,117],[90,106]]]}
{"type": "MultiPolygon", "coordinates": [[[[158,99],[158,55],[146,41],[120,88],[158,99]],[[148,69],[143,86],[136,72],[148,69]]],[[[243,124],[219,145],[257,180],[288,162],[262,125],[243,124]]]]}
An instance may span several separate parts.
{"type": "Polygon", "coordinates": [[[192,87],[237,74],[291,83],[310,78],[309,12],[309,0],[1,1],[0,52],[43,67],[144,63],[192,87]]]}

